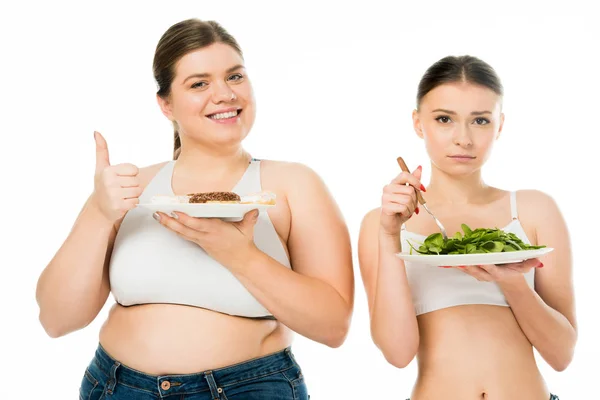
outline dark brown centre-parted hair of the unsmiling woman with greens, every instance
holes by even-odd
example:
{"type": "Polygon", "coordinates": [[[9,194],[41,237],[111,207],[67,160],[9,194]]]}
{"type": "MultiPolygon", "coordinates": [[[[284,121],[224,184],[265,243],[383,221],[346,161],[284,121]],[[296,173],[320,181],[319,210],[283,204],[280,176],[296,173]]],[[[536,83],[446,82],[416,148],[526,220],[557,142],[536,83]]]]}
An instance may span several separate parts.
{"type": "Polygon", "coordinates": [[[425,71],[417,90],[417,109],[423,97],[444,83],[469,82],[487,87],[502,96],[504,89],[496,71],[485,61],[473,56],[448,56],[425,71]]]}

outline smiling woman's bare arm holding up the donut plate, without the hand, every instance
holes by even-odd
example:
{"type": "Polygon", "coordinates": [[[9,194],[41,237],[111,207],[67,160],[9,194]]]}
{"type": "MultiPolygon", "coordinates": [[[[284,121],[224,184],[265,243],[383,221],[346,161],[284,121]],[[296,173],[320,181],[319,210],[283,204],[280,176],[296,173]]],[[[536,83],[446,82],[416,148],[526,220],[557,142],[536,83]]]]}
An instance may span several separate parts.
{"type": "Polygon", "coordinates": [[[286,168],[286,181],[291,184],[286,196],[293,270],[255,246],[249,257],[229,268],[284,325],[338,347],[348,332],[354,301],[348,229],[325,184],[313,171],[297,164],[286,168]]]}

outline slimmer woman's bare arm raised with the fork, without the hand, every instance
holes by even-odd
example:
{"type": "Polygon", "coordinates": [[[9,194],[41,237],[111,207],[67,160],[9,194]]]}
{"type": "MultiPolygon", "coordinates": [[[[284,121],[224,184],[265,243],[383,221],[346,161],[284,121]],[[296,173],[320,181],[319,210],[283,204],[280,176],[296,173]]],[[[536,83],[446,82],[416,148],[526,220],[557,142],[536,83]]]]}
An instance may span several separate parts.
{"type": "Polygon", "coordinates": [[[358,259],[369,301],[371,336],[386,360],[406,367],[419,347],[419,328],[406,277],[400,235],[380,229],[380,210],[369,212],[361,225],[358,259]]]}

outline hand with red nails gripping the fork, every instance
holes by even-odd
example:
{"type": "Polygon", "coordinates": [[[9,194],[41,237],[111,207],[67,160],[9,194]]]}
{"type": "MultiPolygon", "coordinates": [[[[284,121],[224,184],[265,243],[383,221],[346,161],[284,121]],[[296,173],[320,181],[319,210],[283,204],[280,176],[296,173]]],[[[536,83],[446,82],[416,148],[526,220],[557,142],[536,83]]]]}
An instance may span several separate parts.
{"type": "Polygon", "coordinates": [[[410,219],[413,212],[419,213],[416,191],[425,191],[420,180],[421,171],[420,166],[412,174],[403,171],[383,188],[380,216],[383,233],[398,235],[402,224],[410,219]]]}

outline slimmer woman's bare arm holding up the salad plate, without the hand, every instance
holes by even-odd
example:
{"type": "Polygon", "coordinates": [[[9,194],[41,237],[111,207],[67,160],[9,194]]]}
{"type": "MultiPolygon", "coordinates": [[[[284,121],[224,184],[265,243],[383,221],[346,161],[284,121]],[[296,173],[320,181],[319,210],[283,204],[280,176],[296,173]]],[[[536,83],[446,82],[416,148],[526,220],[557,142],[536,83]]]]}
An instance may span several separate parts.
{"type": "Polygon", "coordinates": [[[519,192],[522,215],[535,226],[538,244],[554,248],[536,269],[535,291],[521,277],[500,284],[521,329],[540,355],[557,371],[571,362],[577,328],[572,283],[571,243],[556,203],[537,191],[519,192]],[[536,293],[537,292],[537,293],[536,293]]]}

